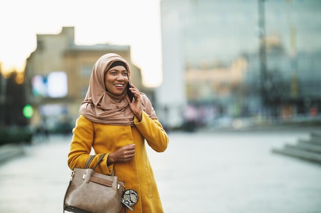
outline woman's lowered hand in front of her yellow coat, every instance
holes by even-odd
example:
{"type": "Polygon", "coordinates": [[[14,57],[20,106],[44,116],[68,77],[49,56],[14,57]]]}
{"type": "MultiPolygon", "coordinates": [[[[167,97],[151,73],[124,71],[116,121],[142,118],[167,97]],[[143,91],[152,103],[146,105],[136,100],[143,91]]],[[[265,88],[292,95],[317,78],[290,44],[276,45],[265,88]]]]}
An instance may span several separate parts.
{"type": "Polygon", "coordinates": [[[135,155],[135,145],[130,144],[110,153],[107,158],[107,165],[115,162],[126,162],[131,160],[135,155]]]}

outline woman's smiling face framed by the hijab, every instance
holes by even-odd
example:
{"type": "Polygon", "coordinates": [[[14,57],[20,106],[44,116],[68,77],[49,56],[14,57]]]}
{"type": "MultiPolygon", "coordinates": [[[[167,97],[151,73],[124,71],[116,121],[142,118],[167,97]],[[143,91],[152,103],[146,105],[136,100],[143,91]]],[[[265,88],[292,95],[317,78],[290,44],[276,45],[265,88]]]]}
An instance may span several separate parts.
{"type": "Polygon", "coordinates": [[[128,82],[127,70],[124,66],[114,66],[105,73],[106,90],[114,96],[123,94],[128,82]]]}

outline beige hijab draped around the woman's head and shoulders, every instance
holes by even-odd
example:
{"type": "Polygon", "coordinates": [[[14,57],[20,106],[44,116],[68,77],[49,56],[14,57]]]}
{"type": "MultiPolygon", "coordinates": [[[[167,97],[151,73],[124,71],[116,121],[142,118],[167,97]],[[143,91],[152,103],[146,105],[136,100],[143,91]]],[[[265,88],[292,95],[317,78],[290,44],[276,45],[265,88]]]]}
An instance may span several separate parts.
{"type": "MultiPolygon", "coordinates": [[[[90,77],[89,88],[85,100],[82,102],[79,113],[86,119],[109,125],[134,126],[134,113],[125,99],[127,91],[125,89],[121,96],[114,96],[106,91],[104,76],[110,65],[115,61],[122,61],[126,64],[128,79],[130,81],[130,67],[127,61],[121,56],[109,53],[103,55],[95,63],[90,77]]],[[[143,111],[151,119],[157,119],[155,111],[147,96],[141,92],[143,111]]]]}

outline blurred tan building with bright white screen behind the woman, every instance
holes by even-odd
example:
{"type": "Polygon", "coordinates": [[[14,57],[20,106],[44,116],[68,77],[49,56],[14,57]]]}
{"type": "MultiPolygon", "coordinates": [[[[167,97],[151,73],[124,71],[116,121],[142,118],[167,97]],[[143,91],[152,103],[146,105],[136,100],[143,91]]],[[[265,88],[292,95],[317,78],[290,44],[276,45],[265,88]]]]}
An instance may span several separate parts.
{"type": "Polygon", "coordinates": [[[75,45],[73,27],[63,27],[57,35],[37,35],[37,48],[27,59],[25,70],[27,102],[35,109],[31,124],[68,131],[79,116],[94,63],[107,53],[125,58],[131,67],[132,82],[149,93],[142,84],[141,70],[131,63],[130,46],[75,45]]]}

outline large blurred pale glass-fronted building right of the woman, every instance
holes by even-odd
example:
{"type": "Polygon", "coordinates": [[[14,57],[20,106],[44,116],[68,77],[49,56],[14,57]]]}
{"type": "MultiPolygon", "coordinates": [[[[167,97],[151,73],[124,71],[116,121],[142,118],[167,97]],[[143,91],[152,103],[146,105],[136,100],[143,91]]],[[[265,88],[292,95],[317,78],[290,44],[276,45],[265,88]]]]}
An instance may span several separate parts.
{"type": "MultiPolygon", "coordinates": [[[[196,106],[200,114],[209,117],[207,120],[262,114],[263,97],[257,92],[262,87],[258,57],[262,33],[276,37],[276,41],[270,39],[270,45],[278,42],[282,48],[277,51],[277,45],[272,45],[273,51],[267,53],[271,79],[265,79],[264,84],[275,81],[277,75],[286,75],[284,81],[291,88],[284,96],[299,97],[297,85],[303,91],[307,90],[303,85],[309,85],[308,78],[321,83],[315,78],[320,75],[320,67],[315,65],[315,72],[305,72],[307,66],[300,71],[299,65],[301,60],[315,58],[321,50],[321,2],[264,1],[265,29],[258,26],[262,11],[259,12],[257,3],[251,0],[160,1],[163,84],[156,91],[157,112],[164,113],[159,117],[165,117],[168,126],[184,123],[187,105],[196,106]],[[249,78],[256,87],[249,88],[249,78]],[[249,99],[251,102],[246,103],[249,99]]],[[[310,93],[318,92],[315,86],[309,88],[310,93]]],[[[270,103],[277,104],[275,100],[270,103]]],[[[298,100],[289,103],[296,104],[298,100]]],[[[274,107],[274,111],[279,113],[281,108],[274,107]]],[[[295,109],[291,113],[295,113],[295,109]]],[[[273,110],[272,114],[275,114],[273,110]]]]}

